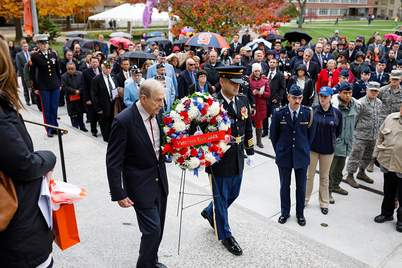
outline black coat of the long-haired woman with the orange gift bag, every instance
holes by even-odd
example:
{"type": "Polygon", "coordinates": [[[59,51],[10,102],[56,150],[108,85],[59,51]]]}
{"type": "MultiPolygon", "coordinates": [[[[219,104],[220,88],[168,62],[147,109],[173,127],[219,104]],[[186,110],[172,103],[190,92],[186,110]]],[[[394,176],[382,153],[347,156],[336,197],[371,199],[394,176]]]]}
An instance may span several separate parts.
{"type": "Polygon", "coordinates": [[[0,232],[1,266],[37,267],[52,252],[54,235],[38,206],[42,177],[56,165],[51,151],[34,151],[22,117],[0,95],[0,170],[11,177],[18,208],[8,227],[0,232]]]}

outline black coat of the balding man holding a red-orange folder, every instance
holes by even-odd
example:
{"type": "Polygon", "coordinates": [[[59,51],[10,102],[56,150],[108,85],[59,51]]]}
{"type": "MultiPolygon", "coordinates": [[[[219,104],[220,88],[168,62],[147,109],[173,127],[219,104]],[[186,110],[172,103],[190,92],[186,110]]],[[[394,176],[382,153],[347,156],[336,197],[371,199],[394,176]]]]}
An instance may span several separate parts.
{"type": "Polygon", "coordinates": [[[68,116],[85,113],[82,95],[82,72],[75,71],[73,75],[68,72],[62,74],[62,86],[66,92],[67,112],[68,116]],[[70,95],[75,94],[75,90],[79,90],[79,100],[70,101],[70,95]]]}

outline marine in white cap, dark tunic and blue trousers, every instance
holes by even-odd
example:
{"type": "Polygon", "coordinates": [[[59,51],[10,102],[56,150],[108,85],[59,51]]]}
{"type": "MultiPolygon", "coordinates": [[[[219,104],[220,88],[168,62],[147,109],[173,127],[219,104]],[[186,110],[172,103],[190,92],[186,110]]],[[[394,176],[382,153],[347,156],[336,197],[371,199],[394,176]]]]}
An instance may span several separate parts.
{"type": "MultiPolygon", "coordinates": [[[[59,62],[55,52],[49,50],[48,34],[35,35],[39,43],[39,51],[31,56],[30,76],[32,89],[38,90],[42,101],[42,111],[45,124],[58,127],[57,109],[59,107],[59,95],[62,87],[59,62]],[[38,79],[36,79],[38,68],[38,79]]],[[[45,128],[48,137],[57,134],[57,130],[45,128]]]]}

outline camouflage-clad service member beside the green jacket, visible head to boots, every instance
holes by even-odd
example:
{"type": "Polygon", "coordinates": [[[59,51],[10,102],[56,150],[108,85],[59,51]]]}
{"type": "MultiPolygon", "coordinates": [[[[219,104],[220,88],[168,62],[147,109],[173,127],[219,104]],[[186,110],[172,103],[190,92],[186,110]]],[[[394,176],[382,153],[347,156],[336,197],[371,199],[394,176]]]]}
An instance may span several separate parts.
{"type": "Polygon", "coordinates": [[[357,104],[352,151],[349,154],[346,165],[348,173],[346,182],[354,188],[359,188],[359,185],[353,179],[353,174],[356,173],[357,167],[359,167],[359,173],[356,175],[357,179],[367,183],[374,183],[373,179],[369,178],[365,173],[365,169],[371,161],[378,129],[380,128],[379,120],[382,102],[377,98],[380,92],[380,83],[369,82],[366,92],[367,94],[359,99],[357,104]]]}

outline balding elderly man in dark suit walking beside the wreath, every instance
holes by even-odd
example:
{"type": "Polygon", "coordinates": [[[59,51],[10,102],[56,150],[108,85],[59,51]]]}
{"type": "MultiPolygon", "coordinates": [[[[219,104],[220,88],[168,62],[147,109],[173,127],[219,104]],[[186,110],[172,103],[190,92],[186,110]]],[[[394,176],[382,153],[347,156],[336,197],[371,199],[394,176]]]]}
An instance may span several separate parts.
{"type": "Polygon", "coordinates": [[[145,80],[138,95],[139,100],[113,120],[106,153],[110,195],[121,207],[135,209],[142,233],[136,267],[166,268],[158,262],[169,194],[159,125],[166,95],[154,79],[145,80]]]}

